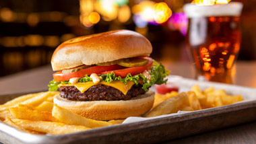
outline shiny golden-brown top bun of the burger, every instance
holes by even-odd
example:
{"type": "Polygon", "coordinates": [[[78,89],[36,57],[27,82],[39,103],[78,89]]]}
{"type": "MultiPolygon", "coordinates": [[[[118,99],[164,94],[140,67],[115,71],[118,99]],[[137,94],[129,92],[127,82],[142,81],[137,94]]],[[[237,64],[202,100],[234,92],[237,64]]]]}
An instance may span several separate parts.
{"type": "Polygon", "coordinates": [[[53,53],[51,64],[53,71],[60,71],[79,65],[149,56],[151,52],[150,41],[141,34],[130,30],[115,30],[63,42],[53,53]]]}

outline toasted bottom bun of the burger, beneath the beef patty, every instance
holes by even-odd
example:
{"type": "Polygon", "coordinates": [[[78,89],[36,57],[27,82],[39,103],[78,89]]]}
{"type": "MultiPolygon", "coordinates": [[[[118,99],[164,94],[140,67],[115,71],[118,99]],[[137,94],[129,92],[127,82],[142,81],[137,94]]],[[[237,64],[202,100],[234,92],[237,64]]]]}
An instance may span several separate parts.
{"type": "Polygon", "coordinates": [[[131,100],[116,101],[71,101],[55,96],[53,102],[86,118],[94,120],[118,120],[129,116],[140,116],[150,110],[154,103],[154,92],[149,91],[131,100]]]}

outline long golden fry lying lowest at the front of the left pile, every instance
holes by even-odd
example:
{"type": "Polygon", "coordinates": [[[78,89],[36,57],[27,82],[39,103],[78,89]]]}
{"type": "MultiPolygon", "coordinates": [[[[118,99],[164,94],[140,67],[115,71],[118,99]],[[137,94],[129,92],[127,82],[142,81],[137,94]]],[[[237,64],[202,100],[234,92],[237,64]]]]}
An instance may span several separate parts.
{"type": "Polygon", "coordinates": [[[13,119],[13,122],[18,124],[20,127],[23,127],[24,129],[28,129],[30,131],[38,131],[41,133],[49,133],[51,135],[62,135],[90,129],[84,126],[68,125],[61,122],[45,122],[20,119],[13,119]]]}

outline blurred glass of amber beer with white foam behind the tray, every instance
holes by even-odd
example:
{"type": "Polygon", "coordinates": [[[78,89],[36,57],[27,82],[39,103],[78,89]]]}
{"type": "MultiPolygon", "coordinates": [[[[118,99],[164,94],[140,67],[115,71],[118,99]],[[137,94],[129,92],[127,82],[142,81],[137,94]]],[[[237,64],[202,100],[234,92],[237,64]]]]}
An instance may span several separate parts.
{"type": "Polygon", "coordinates": [[[197,68],[197,76],[209,81],[232,83],[230,70],[241,43],[239,20],[242,3],[222,5],[186,4],[189,18],[186,44],[197,68]]]}

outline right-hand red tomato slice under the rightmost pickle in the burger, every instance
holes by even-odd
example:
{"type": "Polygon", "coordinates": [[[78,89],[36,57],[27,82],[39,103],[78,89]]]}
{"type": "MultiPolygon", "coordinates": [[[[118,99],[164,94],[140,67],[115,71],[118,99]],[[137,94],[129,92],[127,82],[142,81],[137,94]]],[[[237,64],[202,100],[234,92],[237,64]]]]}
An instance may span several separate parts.
{"type": "Polygon", "coordinates": [[[126,77],[126,75],[128,73],[131,73],[131,75],[137,75],[139,73],[143,73],[143,71],[145,70],[149,70],[152,65],[153,65],[153,59],[151,59],[150,57],[140,57],[143,59],[148,59],[148,64],[147,65],[143,65],[140,67],[131,67],[131,68],[126,68],[126,69],[117,69],[115,71],[111,70],[111,71],[105,71],[102,72],[100,74],[106,74],[106,73],[111,73],[112,71],[115,73],[115,75],[117,75],[118,77],[126,77]]]}

